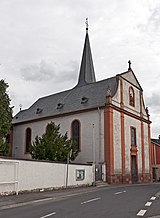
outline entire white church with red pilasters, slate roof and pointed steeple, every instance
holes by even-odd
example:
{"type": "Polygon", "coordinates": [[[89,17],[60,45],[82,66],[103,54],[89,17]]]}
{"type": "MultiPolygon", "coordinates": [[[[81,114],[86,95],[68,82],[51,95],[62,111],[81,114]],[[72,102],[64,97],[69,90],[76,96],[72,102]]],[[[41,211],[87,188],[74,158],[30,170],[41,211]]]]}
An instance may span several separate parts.
{"type": "Polygon", "coordinates": [[[13,118],[12,156],[30,159],[29,143],[51,121],[76,141],[74,162],[95,163],[96,179],[108,183],[152,180],[150,118],[143,90],[131,68],[96,82],[86,29],[77,85],[38,99],[13,118]]]}

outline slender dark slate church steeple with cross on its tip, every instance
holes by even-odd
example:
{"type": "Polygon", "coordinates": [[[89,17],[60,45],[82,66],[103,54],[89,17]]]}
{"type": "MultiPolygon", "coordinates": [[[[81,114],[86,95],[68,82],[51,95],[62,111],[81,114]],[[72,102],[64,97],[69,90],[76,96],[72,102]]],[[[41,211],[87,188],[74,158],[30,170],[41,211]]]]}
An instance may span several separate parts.
{"type": "Polygon", "coordinates": [[[79,73],[79,79],[77,86],[83,86],[88,83],[96,82],[92,53],[89,43],[89,35],[88,35],[88,18],[86,18],[86,37],[83,48],[83,55],[79,73]]]}

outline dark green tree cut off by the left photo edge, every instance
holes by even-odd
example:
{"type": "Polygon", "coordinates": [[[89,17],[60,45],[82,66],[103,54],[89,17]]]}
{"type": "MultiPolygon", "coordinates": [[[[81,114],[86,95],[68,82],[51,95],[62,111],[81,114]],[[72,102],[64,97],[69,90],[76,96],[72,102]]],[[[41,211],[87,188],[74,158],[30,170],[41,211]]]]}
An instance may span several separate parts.
{"type": "Polygon", "coordinates": [[[12,108],[7,94],[8,84],[0,80],[0,155],[9,155],[9,135],[12,123],[12,108]]]}

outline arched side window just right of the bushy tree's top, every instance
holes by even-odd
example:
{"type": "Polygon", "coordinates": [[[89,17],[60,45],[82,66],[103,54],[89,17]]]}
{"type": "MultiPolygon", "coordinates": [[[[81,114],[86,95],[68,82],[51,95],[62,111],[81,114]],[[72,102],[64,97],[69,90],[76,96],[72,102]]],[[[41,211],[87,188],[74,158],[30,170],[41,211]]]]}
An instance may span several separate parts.
{"type": "Polygon", "coordinates": [[[71,126],[72,141],[77,145],[78,150],[80,150],[80,122],[74,120],[71,126]]]}

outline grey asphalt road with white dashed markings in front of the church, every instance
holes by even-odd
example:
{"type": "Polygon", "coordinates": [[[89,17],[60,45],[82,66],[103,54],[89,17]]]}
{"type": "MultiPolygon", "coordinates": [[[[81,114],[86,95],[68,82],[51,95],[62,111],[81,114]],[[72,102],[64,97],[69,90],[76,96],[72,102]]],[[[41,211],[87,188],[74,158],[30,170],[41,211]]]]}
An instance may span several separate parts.
{"type": "Polygon", "coordinates": [[[1,197],[4,218],[160,218],[160,184],[104,186],[1,197]]]}

